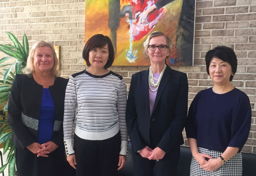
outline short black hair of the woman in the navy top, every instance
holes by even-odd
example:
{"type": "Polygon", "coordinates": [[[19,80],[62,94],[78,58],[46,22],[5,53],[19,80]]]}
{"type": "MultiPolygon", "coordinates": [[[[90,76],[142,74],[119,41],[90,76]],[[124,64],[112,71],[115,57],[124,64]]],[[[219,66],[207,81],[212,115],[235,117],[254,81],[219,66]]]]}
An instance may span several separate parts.
{"type": "MultiPolygon", "coordinates": [[[[237,56],[235,56],[235,52],[226,46],[218,46],[213,50],[210,50],[205,55],[205,62],[206,62],[206,71],[209,74],[209,67],[212,58],[219,58],[224,62],[228,62],[231,65],[231,70],[233,74],[237,72],[237,56]]],[[[230,75],[229,80],[232,81],[234,76],[230,75]]]]}

